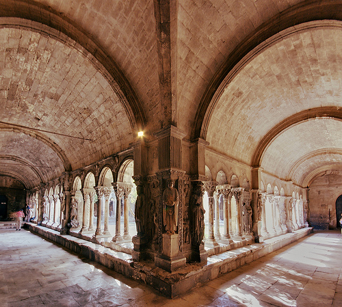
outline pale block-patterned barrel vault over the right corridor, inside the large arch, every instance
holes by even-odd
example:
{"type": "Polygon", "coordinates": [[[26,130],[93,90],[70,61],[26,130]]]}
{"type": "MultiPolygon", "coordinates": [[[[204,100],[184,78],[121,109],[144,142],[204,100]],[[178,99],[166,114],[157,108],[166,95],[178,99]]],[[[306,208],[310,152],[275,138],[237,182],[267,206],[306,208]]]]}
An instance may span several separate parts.
{"type": "Polygon", "coordinates": [[[263,42],[219,88],[210,147],[298,185],[322,166],[313,152],[326,148],[324,165],[339,163],[341,48],[341,23],[330,21],[306,23],[263,42]],[[330,112],[336,114],[330,118],[330,112]],[[308,118],[313,120],[303,122],[308,118]],[[303,157],[311,157],[305,170],[298,165],[303,157]]]}

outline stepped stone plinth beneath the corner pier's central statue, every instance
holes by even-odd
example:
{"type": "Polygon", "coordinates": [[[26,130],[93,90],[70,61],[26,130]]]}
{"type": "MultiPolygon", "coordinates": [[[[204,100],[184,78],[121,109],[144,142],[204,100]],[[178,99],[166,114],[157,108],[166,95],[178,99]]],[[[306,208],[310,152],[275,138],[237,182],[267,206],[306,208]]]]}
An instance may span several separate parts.
{"type": "Polygon", "coordinates": [[[178,234],[163,234],[163,254],[155,256],[155,265],[166,271],[173,272],[185,267],[187,260],[179,254],[178,234]]]}

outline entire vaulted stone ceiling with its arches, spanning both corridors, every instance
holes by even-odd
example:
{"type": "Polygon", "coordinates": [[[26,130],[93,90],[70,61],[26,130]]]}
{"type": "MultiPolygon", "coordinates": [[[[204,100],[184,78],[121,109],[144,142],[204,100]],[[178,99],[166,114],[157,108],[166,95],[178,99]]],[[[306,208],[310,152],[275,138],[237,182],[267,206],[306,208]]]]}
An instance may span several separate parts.
{"type": "Polygon", "coordinates": [[[0,176],[36,187],[174,124],[306,186],[341,168],[341,8],[0,0],[0,176]]]}

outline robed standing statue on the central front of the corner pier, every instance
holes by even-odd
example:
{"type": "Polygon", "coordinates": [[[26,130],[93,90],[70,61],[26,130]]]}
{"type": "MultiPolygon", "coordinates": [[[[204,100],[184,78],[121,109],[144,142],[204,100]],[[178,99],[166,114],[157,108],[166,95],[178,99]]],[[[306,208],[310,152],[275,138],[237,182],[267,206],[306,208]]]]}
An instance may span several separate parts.
{"type": "Polygon", "coordinates": [[[168,187],[163,191],[163,225],[168,235],[174,235],[178,226],[178,191],[172,179],[167,183],[168,187]]]}

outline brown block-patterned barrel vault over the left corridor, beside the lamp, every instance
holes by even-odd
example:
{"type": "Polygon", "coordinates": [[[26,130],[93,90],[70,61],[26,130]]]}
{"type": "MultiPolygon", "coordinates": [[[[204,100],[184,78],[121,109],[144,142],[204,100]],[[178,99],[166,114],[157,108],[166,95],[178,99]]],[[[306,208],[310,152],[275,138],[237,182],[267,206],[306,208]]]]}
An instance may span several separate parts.
{"type": "Polygon", "coordinates": [[[106,71],[72,40],[0,29],[0,172],[27,188],[129,147],[131,119],[106,71]]]}

